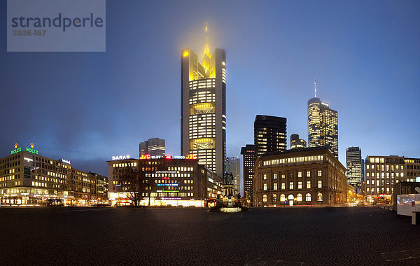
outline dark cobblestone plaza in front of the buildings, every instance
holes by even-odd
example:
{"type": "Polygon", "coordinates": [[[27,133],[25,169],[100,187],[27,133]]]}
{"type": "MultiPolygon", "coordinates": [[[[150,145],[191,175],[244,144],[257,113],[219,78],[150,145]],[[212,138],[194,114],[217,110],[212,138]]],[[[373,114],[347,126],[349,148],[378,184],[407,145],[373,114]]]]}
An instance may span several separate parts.
{"type": "Polygon", "coordinates": [[[419,265],[420,227],[376,207],[1,208],[0,265],[419,265]]]}

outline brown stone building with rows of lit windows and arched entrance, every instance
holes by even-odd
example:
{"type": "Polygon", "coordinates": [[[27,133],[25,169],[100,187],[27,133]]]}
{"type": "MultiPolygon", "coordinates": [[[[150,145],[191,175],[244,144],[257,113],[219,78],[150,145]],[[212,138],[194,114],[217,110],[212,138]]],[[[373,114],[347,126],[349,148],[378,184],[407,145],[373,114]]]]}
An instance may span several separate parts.
{"type": "Polygon", "coordinates": [[[263,155],[254,170],[254,206],[346,202],[346,168],[325,147],[263,155]]]}

